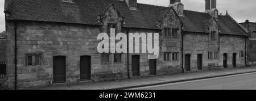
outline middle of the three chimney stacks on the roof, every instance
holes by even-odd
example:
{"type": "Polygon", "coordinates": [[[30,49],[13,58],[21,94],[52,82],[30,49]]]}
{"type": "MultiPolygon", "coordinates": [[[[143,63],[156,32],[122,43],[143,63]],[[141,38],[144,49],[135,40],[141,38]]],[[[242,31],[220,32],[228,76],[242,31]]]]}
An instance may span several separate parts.
{"type": "Polygon", "coordinates": [[[169,7],[173,7],[179,16],[184,16],[184,5],[181,3],[181,0],[170,0],[169,7]]]}

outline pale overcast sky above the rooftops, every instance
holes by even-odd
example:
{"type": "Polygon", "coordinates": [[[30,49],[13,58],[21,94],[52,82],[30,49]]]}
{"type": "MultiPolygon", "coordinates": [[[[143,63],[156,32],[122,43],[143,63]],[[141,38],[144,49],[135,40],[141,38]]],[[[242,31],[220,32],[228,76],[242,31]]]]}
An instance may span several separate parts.
{"type": "MultiPolygon", "coordinates": [[[[43,1],[43,0],[42,0],[43,1]]],[[[150,5],[168,6],[170,0],[138,0],[139,3],[150,5]]],[[[181,0],[184,4],[184,10],[193,10],[203,12],[205,10],[204,0],[181,0]]],[[[5,14],[3,8],[5,0],[0,0],[0,32],[5,31],[5,14]]],[[[217,0],[217,9],[222,15],[228,14],[232,16],[238,23],[256,22],[256,1],[255,0],[217,0]]]]}

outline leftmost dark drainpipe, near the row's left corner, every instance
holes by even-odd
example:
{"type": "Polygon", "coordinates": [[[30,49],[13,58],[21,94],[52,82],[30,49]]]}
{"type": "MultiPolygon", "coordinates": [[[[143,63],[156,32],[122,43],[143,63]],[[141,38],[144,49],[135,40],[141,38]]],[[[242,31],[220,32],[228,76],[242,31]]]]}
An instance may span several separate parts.
{"type": "Polygon", "coordinates": [[[15,40],[15,82],[14,82],[14,89],[17,89],[17,26],[16,22],[14,21],[14,40],[15,40]]]}

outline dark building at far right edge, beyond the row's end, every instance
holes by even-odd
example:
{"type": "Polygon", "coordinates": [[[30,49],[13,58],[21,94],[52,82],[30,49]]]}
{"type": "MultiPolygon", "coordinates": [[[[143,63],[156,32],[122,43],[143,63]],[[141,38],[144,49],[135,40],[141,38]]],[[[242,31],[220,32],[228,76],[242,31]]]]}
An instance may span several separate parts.
{"type": "Polygon", "coordinates": [[[256,23],[246,20],[244,23],[240,23],[248,31],[247,40],[247,63],[248,65],[256,65],[256,23]]]}

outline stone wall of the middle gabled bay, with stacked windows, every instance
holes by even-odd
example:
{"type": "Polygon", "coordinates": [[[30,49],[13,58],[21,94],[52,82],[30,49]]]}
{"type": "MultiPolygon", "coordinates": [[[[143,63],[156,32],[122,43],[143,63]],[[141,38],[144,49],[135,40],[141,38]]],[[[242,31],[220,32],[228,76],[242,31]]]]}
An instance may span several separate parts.
{"type": "Polygon", "coordinates": [[[164,31],[162,31],[162,47],[161,61],[163,64],[160,65],[159,74],[175,74],[181,73],[182,69],[182,37],[181,37],[181,22],[179,16],[175,14],[175,11],[170,9],[162,20],[162,28],[177,28],[177,37],[173,36],[164,36],[164,31]],[[171,53],[170,61],[164,61],[164,52],[171,53]],[[172,60],[172,53],[178,53],[177,61],[172,60]]]}

